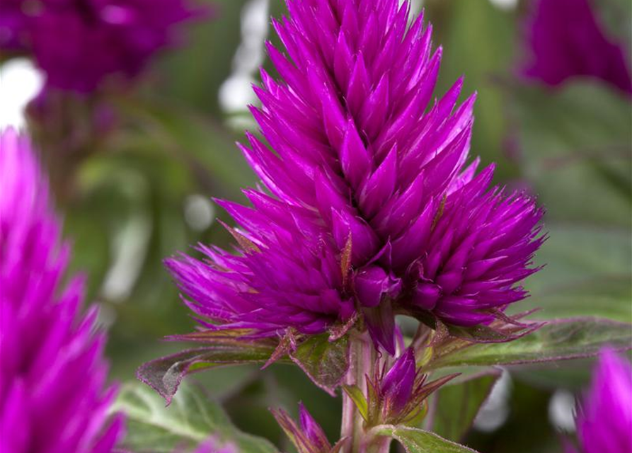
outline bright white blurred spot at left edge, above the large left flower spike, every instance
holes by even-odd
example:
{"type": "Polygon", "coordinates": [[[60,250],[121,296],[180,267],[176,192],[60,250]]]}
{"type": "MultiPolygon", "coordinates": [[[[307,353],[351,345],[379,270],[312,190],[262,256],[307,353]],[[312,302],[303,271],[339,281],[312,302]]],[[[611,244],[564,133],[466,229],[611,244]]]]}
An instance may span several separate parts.
{"type": "Polygon", "coordinates": [[[24,108],[42,88],[42,73],[26,58],[11,59],[0,67],[0,127],[24,127],[24,108]]]}

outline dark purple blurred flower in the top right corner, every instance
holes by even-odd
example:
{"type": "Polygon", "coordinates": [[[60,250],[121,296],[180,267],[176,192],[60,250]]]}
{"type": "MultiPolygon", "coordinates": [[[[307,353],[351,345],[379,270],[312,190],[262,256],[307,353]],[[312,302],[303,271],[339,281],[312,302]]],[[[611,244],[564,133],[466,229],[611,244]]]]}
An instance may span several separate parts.
{"type": "Polygon", "coordinates": [[[551,86],[590,76],[632,93],[628,51],[607,36],[590,0],[534,0],[533,6],[525,23],[532,55],[524,76],[551,86]]]}

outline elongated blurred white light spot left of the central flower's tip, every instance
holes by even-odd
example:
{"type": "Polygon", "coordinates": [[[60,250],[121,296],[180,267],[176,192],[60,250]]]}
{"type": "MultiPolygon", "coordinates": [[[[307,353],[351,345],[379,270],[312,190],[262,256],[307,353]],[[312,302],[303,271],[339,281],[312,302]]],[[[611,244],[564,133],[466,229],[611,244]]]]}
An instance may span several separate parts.
{"type": "Polygon", "coordinates": [[[219,105],[226,113],[239,113],[255,103],[253,74],[263,63],[263,43],[268,36],[269,0],[250,0],[241,11],[241,44],[233,57],[231,75],[219,87],[219,105]]]}

